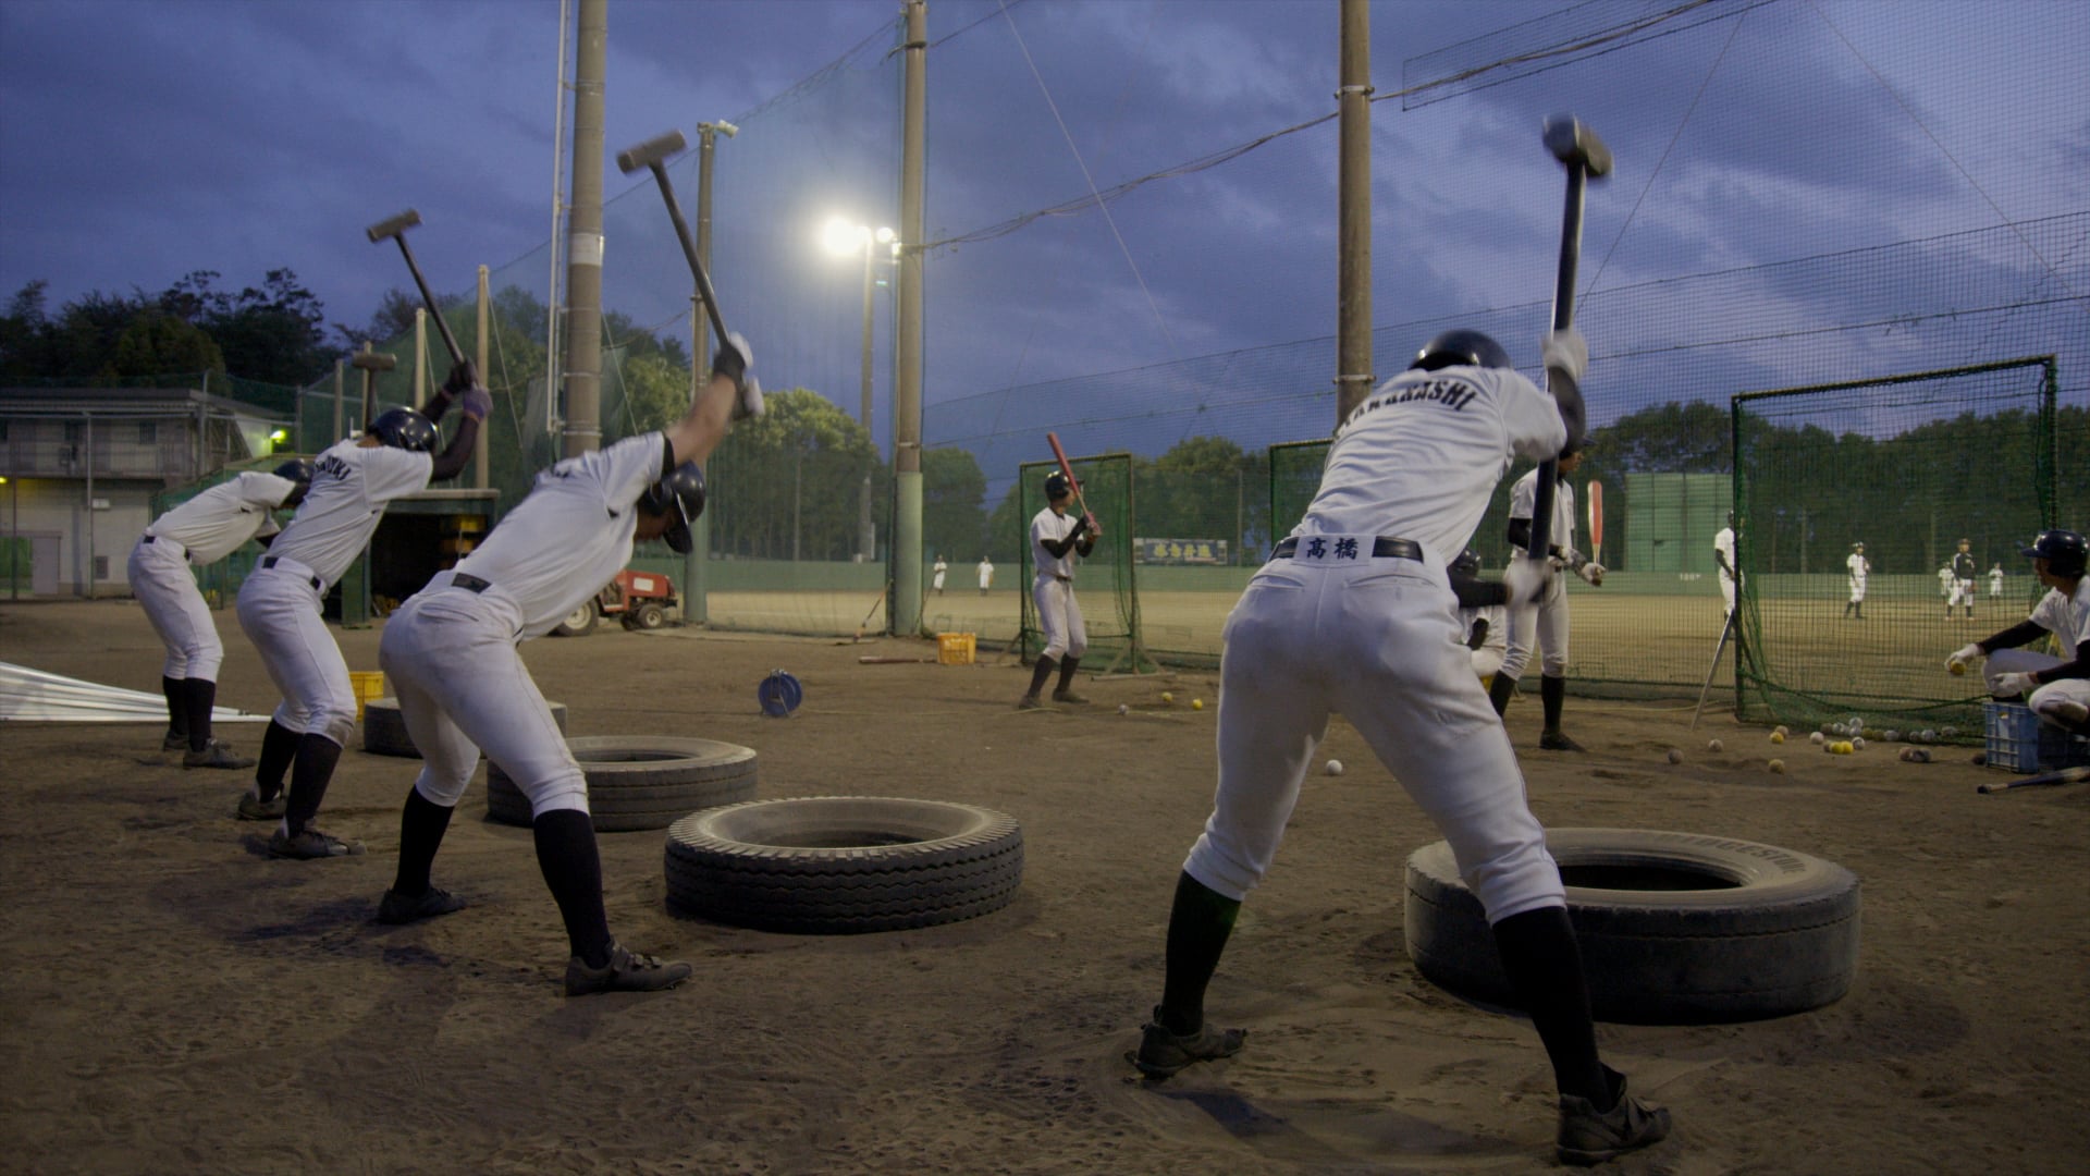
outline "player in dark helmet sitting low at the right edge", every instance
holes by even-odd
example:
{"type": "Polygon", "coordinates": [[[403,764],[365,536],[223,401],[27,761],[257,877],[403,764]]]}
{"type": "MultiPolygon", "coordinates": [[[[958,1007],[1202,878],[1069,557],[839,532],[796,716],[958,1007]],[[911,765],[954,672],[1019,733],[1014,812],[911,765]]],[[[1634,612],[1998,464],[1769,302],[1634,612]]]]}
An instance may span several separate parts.
{"type": "Polygon", "coordinates": [[[2077,532],[2040,532],[2019,555],[2031,557],[2031,571],[2046,594],[2031,607],[2031,617],[1958,649],[1946,659],[1946,670],[1960,672],[1988,657],[1990,695],[2023,697],[2042,720],[2090,734],[2090,578],[2084,575],[2090,544],[2077,532]],[[2019,649],[2046,634],[2054,634],[2071,657],[2019,649]]]}

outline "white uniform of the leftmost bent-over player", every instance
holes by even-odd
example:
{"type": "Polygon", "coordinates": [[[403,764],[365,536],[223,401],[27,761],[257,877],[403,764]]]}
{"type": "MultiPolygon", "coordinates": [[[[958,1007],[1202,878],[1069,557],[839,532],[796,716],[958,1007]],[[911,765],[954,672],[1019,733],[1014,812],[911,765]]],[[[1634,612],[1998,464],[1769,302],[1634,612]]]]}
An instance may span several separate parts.
{"type": "Polygon", "coordinates": [[[288,477],[240,473],[153,519],[132,546],[132,594],[167,647],[165,678],[217,680],[226,644],[188,567],[217,563],[251,538],[274,536],[274,511],[295,490],[288,477]]]}

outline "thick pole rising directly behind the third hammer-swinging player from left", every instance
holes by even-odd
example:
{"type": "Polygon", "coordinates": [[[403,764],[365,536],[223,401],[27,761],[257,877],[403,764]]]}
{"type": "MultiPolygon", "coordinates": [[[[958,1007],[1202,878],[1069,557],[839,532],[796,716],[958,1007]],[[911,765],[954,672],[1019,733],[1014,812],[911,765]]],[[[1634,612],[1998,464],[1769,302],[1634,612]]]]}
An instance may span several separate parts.
{"type": "Polygon", "coordinates": [[[564,456],[602,448],[602,80],[610,0],[581,0],[573,56],[573,209],[566,218],[564,456]]]}

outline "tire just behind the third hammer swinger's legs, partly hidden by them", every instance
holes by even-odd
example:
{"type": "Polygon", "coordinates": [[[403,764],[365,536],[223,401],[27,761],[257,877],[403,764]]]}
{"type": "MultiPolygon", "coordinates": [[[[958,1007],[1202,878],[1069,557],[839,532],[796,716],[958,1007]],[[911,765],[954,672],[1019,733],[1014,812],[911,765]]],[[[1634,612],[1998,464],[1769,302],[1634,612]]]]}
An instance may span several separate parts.
{"type": "MultiPolygon", "coordinates": [[[[667,829],[700,808],[754,795],[754,749],[717,739],[577,734],[566,741],[587,776],[598,833],[667,829]]],[[[487,764],[487,816],[529,824],[529,797],[500,764],[487,764]]]]}

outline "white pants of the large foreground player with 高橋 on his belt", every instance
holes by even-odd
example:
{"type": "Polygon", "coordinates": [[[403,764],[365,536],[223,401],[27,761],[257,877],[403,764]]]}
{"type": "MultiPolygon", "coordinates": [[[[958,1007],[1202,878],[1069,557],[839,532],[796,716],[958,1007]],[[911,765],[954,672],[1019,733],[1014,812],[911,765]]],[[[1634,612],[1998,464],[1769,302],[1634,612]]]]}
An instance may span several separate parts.
{"type": "Polygon", "coordinates": [[[1450,841],[1490,923],[1565,906],[1509,734],[1459,636],[1436,557],[1267,563],[1227,617],[1218,795],[1183,868],[1246,898],[1340,711],[1450,841]]]}

